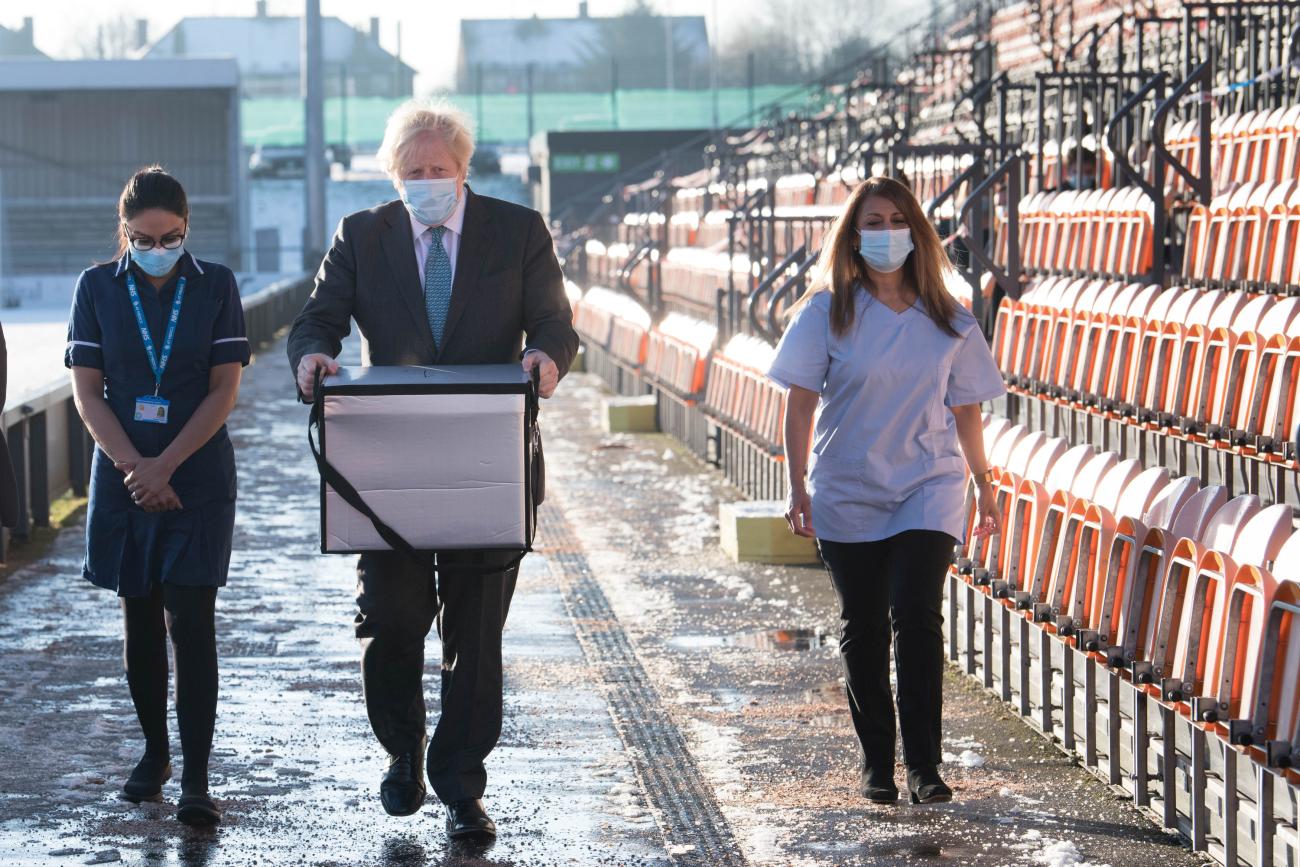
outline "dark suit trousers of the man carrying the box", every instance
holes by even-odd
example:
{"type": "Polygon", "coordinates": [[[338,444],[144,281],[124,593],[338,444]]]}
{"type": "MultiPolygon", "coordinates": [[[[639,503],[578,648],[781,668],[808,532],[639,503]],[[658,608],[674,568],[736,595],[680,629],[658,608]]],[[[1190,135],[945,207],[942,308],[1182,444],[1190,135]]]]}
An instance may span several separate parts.
{"type": "MultiPolygon", "coordinates": [[[[482,552],[437,556],[439,569],[510,560],[482,552]]],[[[436,586],[428,564],[385,551],[363,554],[356,575],[356,637],[374,736],[393,755],[413,753],[424,742],[424,640],[437,621],[442,714],[429,741],[429,784],[445,803],[482,797],[488,785],[484,759],[500,737],[500,633],[519,569],[441,571],[436,586]]]]}

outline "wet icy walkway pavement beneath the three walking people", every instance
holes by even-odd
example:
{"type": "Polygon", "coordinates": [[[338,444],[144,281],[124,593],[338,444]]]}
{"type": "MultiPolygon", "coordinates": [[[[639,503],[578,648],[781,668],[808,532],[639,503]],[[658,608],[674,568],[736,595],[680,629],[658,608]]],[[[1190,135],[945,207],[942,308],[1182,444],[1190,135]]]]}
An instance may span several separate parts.
{"type": "MultiPolygon", "coordinates": [[[[450,846],[434,803],[385,815],[352,558],[317,552],[306,409],[282,359],[276,346],[247,370],[231,421],[242,498],[217,603],[212,777],[224,823],[176,823],[176,781],[159,805],[117,799],[142,744],[116,601],[81,580],[72,528],[0,585],[0,864],[660,866],[718,863],[723,849],[783,866],[1204,863],[956,669],[957,801],[864,803],[829,582],[729,563],[716,503],[734,491],[666,437],[601,434],[585,376],[542,417],[549,547],[526,559],[511,610],[489,759],[500,837],[450,846]]],[[[430,641],[430,714],[437,655],[430,641]]]]}

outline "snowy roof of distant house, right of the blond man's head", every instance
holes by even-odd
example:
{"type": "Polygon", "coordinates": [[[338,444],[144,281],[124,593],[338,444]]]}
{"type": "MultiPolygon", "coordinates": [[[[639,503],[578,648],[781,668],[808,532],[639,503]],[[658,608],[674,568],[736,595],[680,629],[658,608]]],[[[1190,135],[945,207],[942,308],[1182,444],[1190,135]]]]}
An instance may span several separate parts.
{"type": "Polygon", "coordinates": [[[708,58],[708,30],[703,16],[623,16],[614,18],[476,18],[460,22],[460,64],[472,68],[578,66],[593,56],[607,56],[611,31],[634,36],[662,52],[666,40],[650,39],[645,27],[672,29],[676,53],[708,58]]]}

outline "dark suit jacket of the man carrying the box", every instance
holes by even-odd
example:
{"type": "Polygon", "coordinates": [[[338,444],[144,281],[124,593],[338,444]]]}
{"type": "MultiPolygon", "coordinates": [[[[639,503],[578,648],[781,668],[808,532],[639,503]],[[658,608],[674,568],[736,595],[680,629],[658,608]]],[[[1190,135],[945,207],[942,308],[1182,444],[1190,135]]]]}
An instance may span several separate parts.
{"type": "Polygon", "coordinates": [[[530,208],[465,187],[465,221],[442,346],[434,347],[400,200],[343,218],[289,334],[289,361],[337,356],[355,318],[367,364],[504,364],[546,352],[563,377],[577,355],[551,234],[530,208]]]}

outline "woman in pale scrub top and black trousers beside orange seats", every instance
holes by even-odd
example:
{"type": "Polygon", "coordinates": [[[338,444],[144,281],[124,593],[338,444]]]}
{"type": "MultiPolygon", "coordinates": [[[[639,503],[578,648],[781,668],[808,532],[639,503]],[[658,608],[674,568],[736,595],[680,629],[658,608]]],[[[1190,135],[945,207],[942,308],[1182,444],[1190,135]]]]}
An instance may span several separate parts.
{"type": "Polygon", "coordinates": [[[816,538],[840,599],[863,796],[898,798],[892,637],[911,801],[950,801],[939,775],[942,588],[963,541],[967,472],[976,532],[1001,526],[980,403],[1004,394],[1002,376],[948,292],[948,256],[902,183],[876,177],[854,190],[820,260],[768,370],[789,389],[786,520],[816,538]]]}

